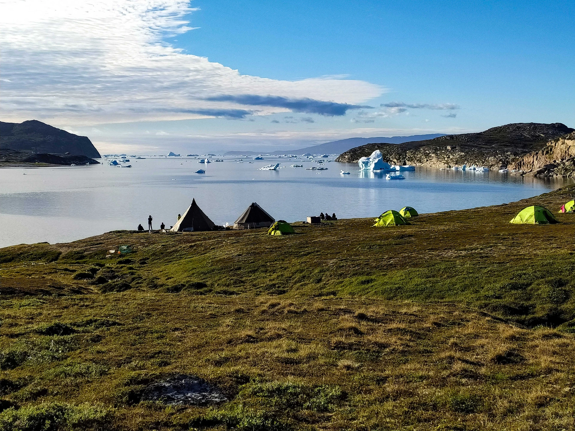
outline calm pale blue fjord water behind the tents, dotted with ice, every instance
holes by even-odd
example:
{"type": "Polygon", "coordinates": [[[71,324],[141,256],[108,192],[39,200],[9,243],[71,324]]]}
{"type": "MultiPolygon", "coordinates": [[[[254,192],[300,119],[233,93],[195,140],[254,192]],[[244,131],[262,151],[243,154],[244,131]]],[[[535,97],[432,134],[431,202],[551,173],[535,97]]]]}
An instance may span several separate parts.
{"type": "Polygon", "coordinates": [[[388,209],[413,206],[420,213],[495,205],[531,197],[565,180],[522,178],[499,172],[474,174],[417,168],[405,180],[359,172],[356,164],[264,157],[200,164],[190,158],[135,160],[132,168],[93,166],[0,169],[0,247],[62,243],[109,230],[174,225],[191,199],[216,224],[232,224],[251,202],[276,220],[305,220],[320,212],[338,218],[377,217],[388,209]],[[259,171],[281,163],[278,171],[259,171]],[[292,168],[290,164],[303,164],[292,168]],[[284,167],[285,166],[285,167],[284,167]],[[194,174],[198,169],[205,174],[194,174]],[[340,175],[340,170],[351,172],[340,175]],[[24,175],[25,174],[25,175],[24,175]]]}

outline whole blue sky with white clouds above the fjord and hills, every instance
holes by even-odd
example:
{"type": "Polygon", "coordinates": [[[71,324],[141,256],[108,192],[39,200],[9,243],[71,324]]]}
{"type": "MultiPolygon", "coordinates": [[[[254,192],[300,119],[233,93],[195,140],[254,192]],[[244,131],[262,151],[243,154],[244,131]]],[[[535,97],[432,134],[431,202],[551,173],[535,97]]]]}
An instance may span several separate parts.
{"type": "MultiPolygon", "coordinates": [[[[4,121],[37,118],[86,134],[104,151],[280,149],[352,136],[478,131],[509,122],[575,124],[573,1],[158,3],[171,9],[162,15],[142,2],[103,0],[94,6],[106,10],[101,20],[85,22],[83,14],[98,13],[79,8],[47,11],[51,20],[39,15],[33,27],[8,23],[5,37],[11,40],[44,32],[53,55],[43,64],[57,67],[39,79],[39,70],[24,61],[0,66],[0,76],[8,79],[2,90],[14,92],[4,121]],[[134,3],[128,13],[125,3],[134,3]],[[119,18],[125,16],[132,18],[119,18]],[[125,31],[101,36],[114,20],[125,31]],[[51,26],[72,21],[80,48],[47,36],[51,26]],[[194,29],[182,28],[182,21],[194,29]],[[156,52],[162,41],[164,52],[156,52]],[[100,46],[108,52],[78,54],[100,46]],[[133,55],[139,49],[146,59],[162,57],[140,67],[147,60],[133,55]],[[70,58],[86,65],[84,80],[68,78],[78,68],[70,58]],[[117,70],[100,72],[102,59],[110,65],[106,69],[117,70]],[[201,73],[177,79],[190,68],[201,73]],[[23,75],[30,80],[17,84],[23,75]],[[158,80],[164,80],[161,88],[155,87],[158,80]],[[41,102],[30,108],[17,100],[22,93],[27,103],[41,102]],[[76,99],[60,100],[62,94],[76,99]],[[121,103],[110,102],[114,97],[121,103]],[[297,108],[306,99],[312,99],[304,103],[308,107],[297,108]],[[345,114],[322,111],[318,103],[329,101],[345,114]]],[[[36,48],[24,42],[3,49],[24,58],[36,48]]]]}

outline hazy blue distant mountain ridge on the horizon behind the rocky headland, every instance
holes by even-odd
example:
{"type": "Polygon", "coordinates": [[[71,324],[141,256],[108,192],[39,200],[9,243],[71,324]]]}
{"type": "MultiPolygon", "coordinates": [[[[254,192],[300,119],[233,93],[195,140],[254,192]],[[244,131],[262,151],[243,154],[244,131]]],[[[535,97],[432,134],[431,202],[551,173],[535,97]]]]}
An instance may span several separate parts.
{"type": "MultiPolygon", "coordinates": [[[[373,144],[373,143],[388,143],[388,144],[401,144],[409,141],[420,141],[425,139],[432,139],[439,136],[445,136],[445,133],[432,133],[432,134],[414,134],[412,136],[379,136],[373,138],[347,138],[340,139],[339,141],[327,142],[325,144],[313,145],[301,149],[286,149],[269,152],[269,154],[296,154],[301,155],[304,153],[311,154],[340,154],[348,149],[358,147],[359,145],[373,144]]],[[[264,151],[228,151],[224,156],[240,156],[240,155],[257,155],[266,153],[264,151]]]]}

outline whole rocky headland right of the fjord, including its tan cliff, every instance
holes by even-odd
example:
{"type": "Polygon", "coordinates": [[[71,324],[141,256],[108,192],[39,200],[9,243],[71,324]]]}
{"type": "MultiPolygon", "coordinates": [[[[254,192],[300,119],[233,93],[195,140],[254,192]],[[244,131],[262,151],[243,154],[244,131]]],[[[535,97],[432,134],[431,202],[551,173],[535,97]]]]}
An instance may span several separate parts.
{"type": "Polygon", "coordinates": [[[562,123],[515,123],[484,132],[440,136],[402,144],[366,144],[336,161],[356,163],[378,149],[392,164],[433,168],[485,166],[534,176],[575,176],[575,129],[562,123]]]}

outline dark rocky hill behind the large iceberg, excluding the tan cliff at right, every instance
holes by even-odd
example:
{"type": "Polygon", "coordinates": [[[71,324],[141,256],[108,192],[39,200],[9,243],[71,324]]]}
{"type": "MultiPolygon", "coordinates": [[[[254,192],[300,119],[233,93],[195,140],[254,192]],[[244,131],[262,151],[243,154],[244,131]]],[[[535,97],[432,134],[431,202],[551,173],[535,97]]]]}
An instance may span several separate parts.
{"type": "Polygon", "coordinates": [[[355,163],[360,157],[369,156],[378,149],[384,159],[393,164],[435,168],[450,168],[463,164],[497,169],[512,168],[523,156],[542,151],[548,147],[551,140],[574,131],[575,129],[561,123],[507,124],[484,132],[451,134],[425,141],[362,145],[342,153],[336,161],[355,163]]]}

